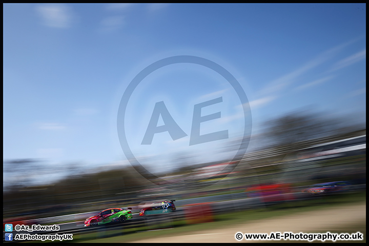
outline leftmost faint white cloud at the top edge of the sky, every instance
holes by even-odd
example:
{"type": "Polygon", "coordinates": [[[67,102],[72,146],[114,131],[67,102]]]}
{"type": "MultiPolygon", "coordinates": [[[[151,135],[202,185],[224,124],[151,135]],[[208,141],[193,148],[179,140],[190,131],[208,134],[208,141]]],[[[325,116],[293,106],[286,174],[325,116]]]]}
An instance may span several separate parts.
{"type": "Polygon", "coordinates": [[[69,28],[73,15],[71,9],[63,4],[42,4],[36,7],[43,24],[49,27],[69,28]]]}

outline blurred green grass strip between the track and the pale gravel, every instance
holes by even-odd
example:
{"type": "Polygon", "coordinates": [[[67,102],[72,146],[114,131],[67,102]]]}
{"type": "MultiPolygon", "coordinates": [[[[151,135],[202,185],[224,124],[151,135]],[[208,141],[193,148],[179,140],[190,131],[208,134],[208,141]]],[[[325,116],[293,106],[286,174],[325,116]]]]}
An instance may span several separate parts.
{"type": "MultiPolygon", "coordinates": [[[[199,224],[187,224],[186,220],[180,221],[167,221],[162,224],[155,224],[152,226],[145,226],[142,228],[134,228],[130,230],[101,230],[100,232],[94,232],[90,234],[75,235],[73,236],[74,242],[104,242],[104,243],[116,243],[116,242],[130,242],[139,239],[170,236],[170,235],[183,235],[189,232],[198,232],[208,229],[219,229],[229,225],[235,225],[239,223],[252,222],[259,219],[266,219],[276,216],[291,215],[299,212],[313,211],[324,208],[332,208],[342,204],[357,203],[366,201],[365,192],[339,194],[333,196],[318,197],[311,200],[293,201],[274,204],[265,208],[250,209],[245,211],[235,211],[229,213],[222,213],[214,215],[213,222],[199,223],[199,224]],[[151,230],[151,231],[148,231],[151,230]]],[[[365,233],[365,226],[353,225],[352,232],[365,233]],[[355,231],[356,230],[356,231],[355,231]]],[[[350,228],[344,227],[344,229],[335,229],[341,232],[350,232],[350,228]]],[[[338,232],[337,231],[337,232],[338,232]]],[[[332,231],[333,232],[333,231],[332,231]]],[[[276,241],[274,241],[276,242],[276,241]]],[[[283,242],[280,241],[280,242],[283,242]]],[[[284,241],[286,242],[286,241],[284,241]]],[[[291,241],[296,242],[296,241],[291,241]]],[[[330,242],[330,241],[327,241],[330,242]]],[[[350,241],[355,242],[355,241],[350,241]]],[[[360,241],[362,242],[362,241],[360,241]]]]}

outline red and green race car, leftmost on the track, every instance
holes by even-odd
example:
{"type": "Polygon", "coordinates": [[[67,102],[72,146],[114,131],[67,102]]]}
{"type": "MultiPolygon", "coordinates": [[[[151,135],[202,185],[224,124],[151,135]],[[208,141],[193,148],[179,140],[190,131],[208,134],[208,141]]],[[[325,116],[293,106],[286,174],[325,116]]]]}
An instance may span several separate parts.
{"type": "Polygon", "coordinates": [[[89,217],[85,220],[85,227],[95,227],[100,224],[107,224],[113,222],[125,222],[132,219],[131,208],[119,209],[112,208],[101,211],[95,216],[89,217]]]}

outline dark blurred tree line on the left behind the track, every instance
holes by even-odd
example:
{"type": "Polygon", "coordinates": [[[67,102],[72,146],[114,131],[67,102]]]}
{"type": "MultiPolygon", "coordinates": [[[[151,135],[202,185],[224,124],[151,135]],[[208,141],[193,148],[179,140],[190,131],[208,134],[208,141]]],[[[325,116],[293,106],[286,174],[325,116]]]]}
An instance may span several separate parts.
{"type": "Polygon", "coordinates": [[[89,203],[110,203],[122,207],[127,206],[139,191],[150,185],[132,167],[96,173],[74,172],[80,168],[81,166],[74,163],[74,168],[64,178],[35,185],[30,177],[41,173],[51,175],[58,172],[58,168],[47,167],[36,159],[4,162],[4,172],[17,174],[3,191],[4,214],[27,214],[33,211],[34,214],[52,213],[56,216],[72,207],[83,207],[82,211],[88,212],[85,210],[89,203]]]}

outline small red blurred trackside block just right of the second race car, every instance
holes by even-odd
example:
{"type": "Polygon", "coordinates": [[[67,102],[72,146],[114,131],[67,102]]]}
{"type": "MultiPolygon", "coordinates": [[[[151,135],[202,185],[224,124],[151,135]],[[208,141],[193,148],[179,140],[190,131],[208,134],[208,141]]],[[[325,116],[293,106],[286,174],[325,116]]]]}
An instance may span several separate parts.
{"type": "Polygon", "coordinates": [[[188,224],[214,221],[212,207],[208,202],[186,205],[185,216],[188,224]]]}

